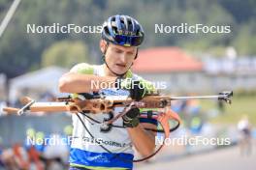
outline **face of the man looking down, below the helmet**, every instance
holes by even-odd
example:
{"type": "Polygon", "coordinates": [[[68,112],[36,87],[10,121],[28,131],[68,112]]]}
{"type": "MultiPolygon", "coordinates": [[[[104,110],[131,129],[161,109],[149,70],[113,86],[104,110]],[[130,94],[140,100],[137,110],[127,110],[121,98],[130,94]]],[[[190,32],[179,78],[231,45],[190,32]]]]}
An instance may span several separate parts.
{"type": "MultiPolygon", "coordinates": [[[[107,42],[101,41],[101,50],[105,51],[107,42]]],[[[105,54],[105,60],[110,69],[118,74],[123,74],[132,66],[137,52],[135,46],[121,46],[109,43],[105,54]]]]}

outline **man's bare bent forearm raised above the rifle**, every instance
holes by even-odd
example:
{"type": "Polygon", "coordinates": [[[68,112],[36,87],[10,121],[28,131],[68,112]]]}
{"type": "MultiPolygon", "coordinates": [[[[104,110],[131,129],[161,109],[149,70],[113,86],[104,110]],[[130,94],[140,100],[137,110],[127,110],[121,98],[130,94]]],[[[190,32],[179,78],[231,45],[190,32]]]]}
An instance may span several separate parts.
{"type": "Polygon", "coordinates": [[[116,77],[98,76],[68,72],[59,79],[58,88],[61,93],[97,92],[101,88],[113,88],[116,77]]]}

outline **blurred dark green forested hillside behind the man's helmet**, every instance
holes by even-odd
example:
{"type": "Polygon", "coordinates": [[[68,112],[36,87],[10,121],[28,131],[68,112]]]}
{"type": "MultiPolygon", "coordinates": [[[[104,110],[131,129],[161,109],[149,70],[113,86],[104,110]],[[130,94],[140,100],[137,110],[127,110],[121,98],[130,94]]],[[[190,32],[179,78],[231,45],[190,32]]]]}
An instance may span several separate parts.
{"type": "MultiPolygon", "coordinates": [[[[0,20],[4,18],[12,2],[12,0],[0,0],[0,20]]],[[[72,56],[69,58],[67,55],[74,57],[83,55],[82,53],[90,56],[88,58],[84,56],[84,60],[99,62],[100,57],[96,56],[101,55],[100,34],[27,34],[26,26],[27,24],[44,26],[52,23],[101,25],[112,14],[129,14],[142,23],[145,31],[142,48],[178,45],[187,50],[208,52],[226,46],[235,46],[240,55],[255,55],[255,9],[254,0],[62,0],[59,2],[22,0],[7,30],[0,38],[0,72],[13,77],[25,71],[53,64],[58,61],[57,56],[65,56],[67,63],[62,60],[60,63],[63,64],[61,66],[68,67],[77,62],[76,60],[80,60],[80,57],[69,61],[72,56]],[[230,34],[156,34],[155,23],[231,25],[232,32],[230,34]],[[74,41],[84,42],[87,48],[83,49],[80,43],[74,47],[74,41]],[[63,46],[66,46],[65,50],[63,46]],[[57,54],[63,51],[65,55],[57,54]],[[50,59],[49,56],[56,57],[50,59]]]]}

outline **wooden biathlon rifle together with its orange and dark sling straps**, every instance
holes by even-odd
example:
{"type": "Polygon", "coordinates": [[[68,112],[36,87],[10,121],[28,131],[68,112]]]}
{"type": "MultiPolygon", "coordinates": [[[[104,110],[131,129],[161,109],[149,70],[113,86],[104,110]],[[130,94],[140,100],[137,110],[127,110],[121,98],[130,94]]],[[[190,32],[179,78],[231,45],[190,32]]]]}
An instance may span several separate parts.
{"type": "MultiPolygon", "coordinates": [[[[25,112],[71,112],[71,113],[109,113],[114,109],[114,107],[124,107],[124,109],[113,117],[111,120],[101,123],[103,126],[112,125],[114,121],[121,118],[126,112],[132,107],[138,108],[154,108],[159,109],[157,113],[147,112],[146,114],[141,114],[142,118],[151,118],[158,121],[162,129],[151,129],[145,128],[147,130],[155,132],[164,132],[165,139],[169,137],[170,132],[178,128],[180,124],[180,118],[176,112],[171,110],[172,100],[188,100],[188,99],[218,99],[223,100],[231,104],[233,92],[222,92],[215,96],[194,96],[194,97],[170,97],[161,95],[148,95],[140,101],[135,101],[130,98],[120,98],[120,97],[105,97],[105,96],[91,96],[88,94],[83,95],[83,99],[72,99],[72,98],[58,98],[56,101],[51,102],[37,102],[34,99],[29,99],[27,97],[21,99],[24,104],[22,108],[5,107],[3,110],[7,113],[16,113],[17,115],[22,115],[25,112]],[[84,98],[85,97],[85,98],[84,98]],[[176,121],[176,127],[170,128],[169,121],[176,121]]],[[[79,115],[78,115],[79,116],[79,115]]],[[[79,117],[80,118],[80,117],[79,117]]],[[[81,121],[81,119],[80,119],[81,121]]],[[[85,125],[83,127],[86,129],[85,125]]],[[[89,133],[92,138],[94,136],[89,133]]],[[[100,145],[106,152],[112,153],[110,150],[100,145]]],[[[143,161],[155,156],[164,146],[164,143],[150,156],[146,156],[141,159],[133,160],[134,162],[143,161]]],[[[122,158],[121,158],[122,159],[122,158]]],[[[127,161],[127,160],[124,160],[127,161]]]]}

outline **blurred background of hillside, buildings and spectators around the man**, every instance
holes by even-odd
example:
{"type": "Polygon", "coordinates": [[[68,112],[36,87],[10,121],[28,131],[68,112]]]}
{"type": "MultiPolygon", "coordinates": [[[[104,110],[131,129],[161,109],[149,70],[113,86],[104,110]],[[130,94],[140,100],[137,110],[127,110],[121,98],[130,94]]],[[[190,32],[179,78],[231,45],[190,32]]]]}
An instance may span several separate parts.
{"type": "MultiPolygon", "coordinates": [[[[131,15],[144,26],[145,40],[133,71],[166,83],[163,93],[190,96],[233,90],[235,94],[232,105],[190,100],[172,106],[183,121],[171,137],[229,138],[230,145],[168,146],[146,163],[136,164],[136,169],[255,169],[253,0],[0,0],[0,107],[20,106],[18,99],[23,96],[37,100],[65,96],[57,90],[64,72],[81,62],[102,63],[99,33],[27,33],[27,24],[86,25],[93,32],[113,14],[131,15]],[[155,33],[155,24],[181,23],[229,25],[231,33],[155,33]]],[[[69,114],[18,117],[0,113],[0,169],[15,169],[17,164],[30,169],[67,168],[68,145],[24,144],[27,137],[68,138],[72,131],[69,114]]]]}

